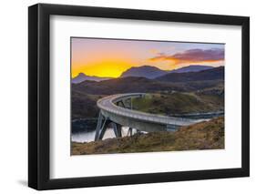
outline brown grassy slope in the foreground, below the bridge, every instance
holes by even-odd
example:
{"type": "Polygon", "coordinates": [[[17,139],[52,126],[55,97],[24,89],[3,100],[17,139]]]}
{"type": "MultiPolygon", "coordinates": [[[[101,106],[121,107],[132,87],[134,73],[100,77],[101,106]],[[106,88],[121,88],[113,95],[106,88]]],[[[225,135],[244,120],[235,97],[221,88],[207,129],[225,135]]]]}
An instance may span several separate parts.
{"type": "Polygon", "coordinates": [[[72,142],[72,155],[224,148],[224,118],[214,118],[176,132],[152,132],[97,142],[72,142]]]}

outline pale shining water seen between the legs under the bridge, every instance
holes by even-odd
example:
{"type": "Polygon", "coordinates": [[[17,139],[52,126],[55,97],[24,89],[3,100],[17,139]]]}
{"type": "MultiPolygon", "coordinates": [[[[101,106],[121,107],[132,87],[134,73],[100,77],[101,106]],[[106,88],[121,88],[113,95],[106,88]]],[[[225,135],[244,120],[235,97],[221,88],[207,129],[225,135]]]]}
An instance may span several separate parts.
{"type": "MultiPolygon", "coordinates": [[[[136,130],[133,129],[133,134],[136,133],[136,130]]],[[[90,131],[90,132],[77,132],[77,133],[72,133],[72,141],[76,141],[76,142],[90,142],[90,141],[94,141],[95,138],[95,133],[96,131],[90,131]]],[[[128,128],[127,127],[122,127],[122,137],[128,136],[128,128]]],[[[103,139],[106,138],[116,138],[115,133],[113,128],[107,128],[105,135],[103,137],[103,139]]]]}

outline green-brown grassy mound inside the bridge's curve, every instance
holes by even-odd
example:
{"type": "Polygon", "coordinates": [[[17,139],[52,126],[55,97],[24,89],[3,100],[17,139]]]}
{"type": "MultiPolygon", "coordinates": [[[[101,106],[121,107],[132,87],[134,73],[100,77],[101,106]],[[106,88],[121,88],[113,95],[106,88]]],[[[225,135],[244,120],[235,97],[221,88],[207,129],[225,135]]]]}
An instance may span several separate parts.
{"type": "Polygon", "coordinates": [[[153,93],[134,98],[133,108],[152,114],[172,115],[223,110],[224,98],[220,95],[172,92],[153,93]]]}

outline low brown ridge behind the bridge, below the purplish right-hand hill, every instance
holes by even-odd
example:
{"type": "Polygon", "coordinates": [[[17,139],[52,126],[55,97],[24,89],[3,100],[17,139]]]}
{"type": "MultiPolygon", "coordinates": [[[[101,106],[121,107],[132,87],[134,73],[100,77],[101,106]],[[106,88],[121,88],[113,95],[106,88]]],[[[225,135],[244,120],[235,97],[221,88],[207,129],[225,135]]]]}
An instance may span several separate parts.
{"type": "Polygon", "coordinates": [[[145,77],[123,77],[108,79],[100,82],[84,81],[72,84],[72,92],[79,91],[89,95],[112,95],[132,92],[155,92],[155,91],[194,91],[206,87],[216,87],[220,80],[191,81],[191,82],[162,82],[145,77]]]}

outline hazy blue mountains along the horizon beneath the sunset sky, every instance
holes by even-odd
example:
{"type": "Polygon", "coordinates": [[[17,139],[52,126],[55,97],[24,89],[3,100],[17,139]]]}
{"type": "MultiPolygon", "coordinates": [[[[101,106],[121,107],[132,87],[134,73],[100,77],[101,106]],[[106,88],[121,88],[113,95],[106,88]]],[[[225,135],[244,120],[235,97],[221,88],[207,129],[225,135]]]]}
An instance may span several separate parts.
{"type": "MultiPolygon", "coordinates": [[[[191,66],[184,66],[171,71],[165,71],[165,70],[159,69],[156,66],[135,66],[123,72],[120,77],[146,77],[148,79],[155,79],[157,77],[163,77],[170,73],[199,72],[199,71],[208,70],[211,68],[213,68],[213,66],[191,65],[191,66]]],[[[74,77],[72,79],[72,83],[77,84],[86,80],[98,82],[98,81],[103,81],[108,79],[112,79],[112,77],[90,77],[85,75],[84,73],[80,73],[77,77],[74,77]]]]}

